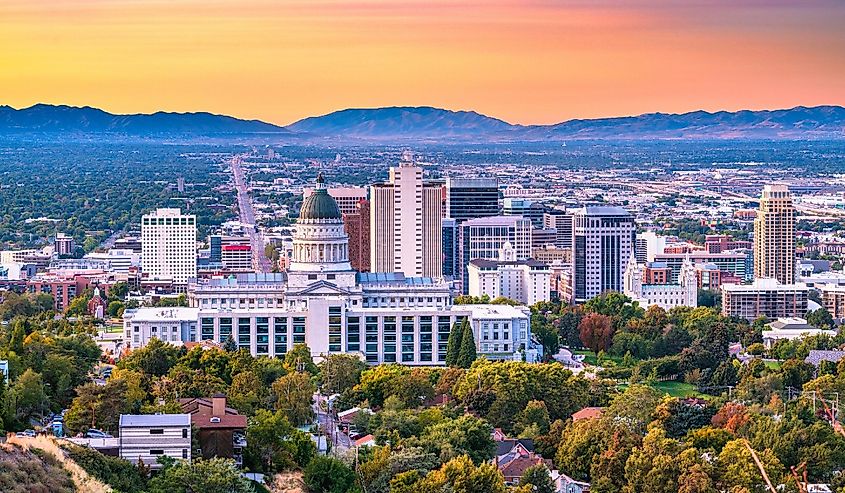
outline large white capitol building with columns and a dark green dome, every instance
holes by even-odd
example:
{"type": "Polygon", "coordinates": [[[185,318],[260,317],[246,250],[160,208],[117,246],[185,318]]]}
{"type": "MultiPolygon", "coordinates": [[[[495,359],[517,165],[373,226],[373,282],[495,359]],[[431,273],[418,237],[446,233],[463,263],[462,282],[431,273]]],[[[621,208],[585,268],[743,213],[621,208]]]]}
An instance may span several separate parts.
{"type": "Polygon", "coordinates": [[[442,279],[352,269],[343,216],[322,174],[303,200],[287,272],[193,280],[188,299],[199,308],[196,341],[232,338],[253,355],[283,357],[304,343],[315,357],[443,365],[452,325],[464,318],[489,359],[537,353],[526,307],[453,305],[442,279]]]}

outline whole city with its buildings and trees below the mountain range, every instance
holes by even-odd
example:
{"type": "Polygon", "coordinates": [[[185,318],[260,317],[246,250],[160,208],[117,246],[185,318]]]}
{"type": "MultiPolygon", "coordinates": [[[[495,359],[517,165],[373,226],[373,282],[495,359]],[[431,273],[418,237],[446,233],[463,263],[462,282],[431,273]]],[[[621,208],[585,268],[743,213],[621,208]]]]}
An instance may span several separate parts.
{"type": "Polygon", "coordinates": [[[845,491],[845,141],[0,139],[0,491],[845,491]]]}

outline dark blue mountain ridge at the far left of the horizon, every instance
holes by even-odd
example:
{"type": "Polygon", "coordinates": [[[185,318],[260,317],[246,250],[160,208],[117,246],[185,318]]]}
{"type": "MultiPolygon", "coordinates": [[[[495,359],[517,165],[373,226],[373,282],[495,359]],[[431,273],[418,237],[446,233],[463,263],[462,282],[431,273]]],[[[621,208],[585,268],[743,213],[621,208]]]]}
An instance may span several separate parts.
{"type": "Polygon", "coordinates": [[[259,120],[240,120],[212,113],[168,113],[115,115],[97,108],[36,104],[16,110],[0,106],[0,133],[115,133],[160,134],[246,134],[289,133],[284,127],[259,120]]]}

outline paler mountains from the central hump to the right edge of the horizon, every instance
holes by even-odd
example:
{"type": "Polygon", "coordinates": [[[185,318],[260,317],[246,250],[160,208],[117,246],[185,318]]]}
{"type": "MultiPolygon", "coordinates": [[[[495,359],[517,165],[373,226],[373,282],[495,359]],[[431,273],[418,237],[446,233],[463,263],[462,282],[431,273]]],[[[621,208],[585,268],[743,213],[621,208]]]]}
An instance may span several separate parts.
{"type": "Polygon", "coordinates": [[[845,108],[799,106],[774,111],[649,113],[522,126],[472,111],[392,107],[336,111],[300,120],[288,128],[312,135],[352,139],[845,138],[845,108]]]}

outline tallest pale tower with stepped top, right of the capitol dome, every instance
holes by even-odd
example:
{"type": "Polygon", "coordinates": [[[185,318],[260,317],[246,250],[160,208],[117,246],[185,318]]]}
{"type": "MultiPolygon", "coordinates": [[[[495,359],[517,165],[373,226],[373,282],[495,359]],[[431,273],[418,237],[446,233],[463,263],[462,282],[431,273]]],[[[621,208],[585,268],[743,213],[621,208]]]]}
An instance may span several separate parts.
{"type": "Polygon", "coordinates": [[[425,183],[422,174],[404,156],[387,183],[370,187],[373,272],[442,276],[443,185],[425,183]]]}

